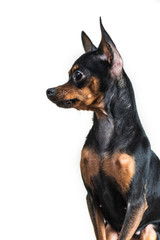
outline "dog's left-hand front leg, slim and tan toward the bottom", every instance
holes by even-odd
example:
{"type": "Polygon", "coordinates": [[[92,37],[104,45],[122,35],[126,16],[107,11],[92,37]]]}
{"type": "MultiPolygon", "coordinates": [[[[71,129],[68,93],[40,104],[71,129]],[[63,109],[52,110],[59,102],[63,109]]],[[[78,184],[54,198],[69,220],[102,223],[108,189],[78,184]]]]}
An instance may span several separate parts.
{"type": "Polygon", "coordinates": [[[96,238],[97,240],[106,240],[106,227],[101,209],[90,194],[86,199],[96,238]]]}

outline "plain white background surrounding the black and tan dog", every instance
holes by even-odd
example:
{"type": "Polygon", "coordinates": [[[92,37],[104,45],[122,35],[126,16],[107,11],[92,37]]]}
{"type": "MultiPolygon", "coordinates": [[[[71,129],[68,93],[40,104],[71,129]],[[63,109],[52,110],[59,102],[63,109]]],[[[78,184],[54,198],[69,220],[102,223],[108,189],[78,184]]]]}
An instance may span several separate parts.
{"type": "Polygon", "coordinates": [[[81,30],[99,44],[100,16],[160,156],[160,0],[0,0],[0,240],[95,238],[79,169],[92,113],[45,91],[67,81],[81,30]]]}

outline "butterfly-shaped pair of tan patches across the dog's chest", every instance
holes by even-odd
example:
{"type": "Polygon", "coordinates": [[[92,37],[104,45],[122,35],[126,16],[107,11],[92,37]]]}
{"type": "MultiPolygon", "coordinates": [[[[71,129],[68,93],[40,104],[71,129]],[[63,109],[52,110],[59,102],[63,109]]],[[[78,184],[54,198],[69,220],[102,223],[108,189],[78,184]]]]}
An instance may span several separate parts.
{"type": "Polygon", "coordinates": [[[93,179],[103,172],[113,179],[123,193],[130,187],[135,173],[135,160],[126,153],[114,153],[100,157],[93,149],[84,148],[81,156],[81,173],[86,186],[94,189],[93,179]]]}

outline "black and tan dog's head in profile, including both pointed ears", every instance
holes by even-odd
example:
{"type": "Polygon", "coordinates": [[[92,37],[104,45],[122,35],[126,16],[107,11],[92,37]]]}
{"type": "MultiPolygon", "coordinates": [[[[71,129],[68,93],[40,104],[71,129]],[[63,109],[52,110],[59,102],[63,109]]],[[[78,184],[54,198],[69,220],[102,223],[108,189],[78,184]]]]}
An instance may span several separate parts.
{"type": "Polygon", "coordinates": [[[105,31],[100,19],[102,39],[96,48],[89,37],[82,32],[85,50],[69,71],[69,81],[62,86],[49,88],[49,100],[63,108],[93,110],[102,112],[104,96],[122,75],[122,59],[115,44],[105,31]]]}

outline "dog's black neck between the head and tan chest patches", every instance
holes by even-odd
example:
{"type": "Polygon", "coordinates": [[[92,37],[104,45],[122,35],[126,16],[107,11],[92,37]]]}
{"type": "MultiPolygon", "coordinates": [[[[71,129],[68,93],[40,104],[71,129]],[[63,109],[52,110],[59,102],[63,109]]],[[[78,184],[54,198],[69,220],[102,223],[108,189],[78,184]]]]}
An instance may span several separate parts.
{"type": "Polygon", "coordinates": [[[121,83],[112,86],[104,97],[104,112],[94,114],[93,134],[102,152],[124,151],[137,132],[141,130],[133,88],[123,73],[121,83]],[[114,148],[114,149],[113,149],[114,148]]]}

